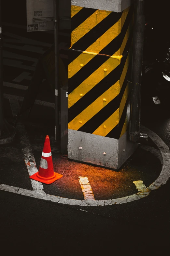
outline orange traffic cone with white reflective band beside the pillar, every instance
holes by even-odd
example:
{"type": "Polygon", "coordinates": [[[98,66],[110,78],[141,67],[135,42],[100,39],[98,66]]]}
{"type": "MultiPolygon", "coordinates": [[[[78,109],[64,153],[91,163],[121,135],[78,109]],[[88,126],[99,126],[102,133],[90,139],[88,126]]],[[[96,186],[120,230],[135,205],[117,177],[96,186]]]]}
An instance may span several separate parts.
{"type": "Polygon", "coordinates": [[[54,172],[51,156],[50,138],[47,135],[44,148],[41,156],[41,162],[39,166],[39,171],[30,176],[30,179],[35,179],[42,183],[51,184],[57,179],[62,178],[63,175],[54,172]]]}

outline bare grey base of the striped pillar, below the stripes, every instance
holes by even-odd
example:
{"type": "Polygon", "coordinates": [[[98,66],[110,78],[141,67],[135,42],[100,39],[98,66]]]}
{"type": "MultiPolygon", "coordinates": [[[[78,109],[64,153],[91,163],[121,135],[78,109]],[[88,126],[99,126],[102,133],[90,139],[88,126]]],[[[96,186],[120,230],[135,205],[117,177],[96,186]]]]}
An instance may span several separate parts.
{"type": "Polygon", "coordinates": [[[134,153],[137,143],[128,140],[128,132],[119,140],[68,129],[68,158],[119,169],[134,153]]]}

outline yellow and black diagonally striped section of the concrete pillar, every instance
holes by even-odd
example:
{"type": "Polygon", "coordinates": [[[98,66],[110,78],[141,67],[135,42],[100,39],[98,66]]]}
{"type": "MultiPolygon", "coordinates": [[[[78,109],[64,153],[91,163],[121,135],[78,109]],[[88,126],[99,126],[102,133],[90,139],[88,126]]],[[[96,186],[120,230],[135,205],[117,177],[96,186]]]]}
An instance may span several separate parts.
{"type": "Polygon", "coordinates": [[[126,131],[133,10],[133,6],[122,13],[72,8],[68,128],[110,138],[126,131]],[[97,25],[90,22],[95,15],[100,16],[97,25]],[[116,28],[113,36],[99,44],[103,35],[108,37],[116,28]]]}

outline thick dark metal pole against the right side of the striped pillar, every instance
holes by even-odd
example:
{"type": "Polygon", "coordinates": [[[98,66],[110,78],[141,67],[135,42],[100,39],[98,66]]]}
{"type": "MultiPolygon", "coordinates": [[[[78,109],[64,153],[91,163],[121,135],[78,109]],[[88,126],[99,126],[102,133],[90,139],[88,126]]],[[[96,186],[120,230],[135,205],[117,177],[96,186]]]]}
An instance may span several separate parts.
{"type": "Polygon", "coordinates": [[[133,31],[133,67],[130,108],[130,141],[140,138],[140,99],[141,76],[144,43],[144,0],[135,0],[134,31],[133,31]]]}

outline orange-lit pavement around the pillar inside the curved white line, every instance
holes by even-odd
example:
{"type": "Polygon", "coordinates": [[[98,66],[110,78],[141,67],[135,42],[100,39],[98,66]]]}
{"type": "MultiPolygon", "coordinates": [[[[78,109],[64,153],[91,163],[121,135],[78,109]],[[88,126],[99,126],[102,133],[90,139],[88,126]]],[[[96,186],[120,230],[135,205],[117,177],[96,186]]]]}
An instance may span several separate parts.
{"type": "MultiPolygon", "coordinates": [[[[14,180],[13,183],[10,182],[10,176],[7,183],[3,182],[3,179],[0,180],[2,184],[0,188],[2,189],[6,185],[19,187],[17,194],[68,205],[107,206],[123,204],[148,196],[150,191],[155,189],[160,178],[164,177],[161,169],[166,152],[162,155],[158,149],[151,146],[139,146],[134,155],[119,171],[113,171],[68,161],[67,158],[56,153],[56,147],[52,139],[51,148],[55,148],[54,151],[51,149],[54,171],[63,174],[63,178],[49,186],[29,179],[29,176],[38,171],[37,166],[39,166],[42,154],[42,149],[32,149],[32,144],[37,143],[38,145],[44,142],[42,133],[39,129],[36,131],[35,127],[24,126],[22,122],[17,124],[17,131],[18,143],[17,145],[14,143],[13,151],[16,147],[20,148],[22,156],[19,158],[22,164],[25,163],[25,179],[27,179],[29,186],[26,183],[22,183],[20,186],[17,185],[18,176],[16,176],[15,184],[14,180]]],[[[9,148],[11,150],[11,147],[9,148]]],[[[9,148],[6,149],[9,150],[9,148]]],[[[13,153],[11,152],[11,154],[12,159],[13,153]]],[[[168,159],[169,156],[166,157],[168,159]]],[[[7,158],[4,157],[4,161],[7,165],[5,168],[8,169],[7,158]]],[[[166,166],[164,165],[163,168],[166,169],[166,166]]],[[[20,165],[18,165],[19,170],[20,165]]],[[[15,191],[16,189],[13,190],[14,193],[16,193],[15,191]]]]}

